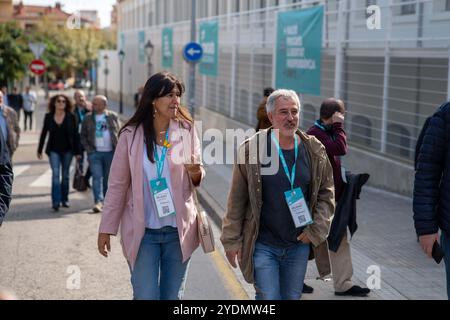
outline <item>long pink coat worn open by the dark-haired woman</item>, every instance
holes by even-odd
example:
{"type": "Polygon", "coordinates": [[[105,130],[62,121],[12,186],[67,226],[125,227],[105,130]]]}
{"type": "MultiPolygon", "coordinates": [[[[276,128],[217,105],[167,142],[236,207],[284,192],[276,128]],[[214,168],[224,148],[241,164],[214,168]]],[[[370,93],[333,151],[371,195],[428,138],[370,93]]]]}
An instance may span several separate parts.
{"type": "MultiPolygon", "coordinates": [[[[189,130],[189,124],[185,127],[187,128],[184,128],[178,120],[170,121],[169,143],[171,146],[167,152],[183,262],[189,259],[197,249],[199,238],[190,178],[177,155],[184,154],[186,150],[193,150],[200,159],[201,154],[196,130],[189,130]],[[194,147],[191,147],[191,141],[194,141],[194,147]]],[[[127,127],[120,135],[114,152],[99,228],[99,233],[117,235],[120,225],[123,253],[131,268],[134,268],[145,233],[143,152],[142,126],[139,126],[137,130],[135,127],[127,127]]],[[[186,157],[189,157],[191,152],[187,152],[186,157]]],[[[205,171],[202,167],[202,179],[204,175],[205,171]]]]}

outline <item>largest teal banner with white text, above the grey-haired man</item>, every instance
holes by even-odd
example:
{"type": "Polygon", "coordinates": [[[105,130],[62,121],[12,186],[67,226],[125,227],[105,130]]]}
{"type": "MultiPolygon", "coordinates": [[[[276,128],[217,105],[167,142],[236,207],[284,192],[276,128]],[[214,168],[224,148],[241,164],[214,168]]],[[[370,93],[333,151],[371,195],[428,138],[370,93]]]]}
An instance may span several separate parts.
{"type": "Polygon", "coordinates": [[[320,95],[323,6],[280,12],[275,87],[320,95]]]}

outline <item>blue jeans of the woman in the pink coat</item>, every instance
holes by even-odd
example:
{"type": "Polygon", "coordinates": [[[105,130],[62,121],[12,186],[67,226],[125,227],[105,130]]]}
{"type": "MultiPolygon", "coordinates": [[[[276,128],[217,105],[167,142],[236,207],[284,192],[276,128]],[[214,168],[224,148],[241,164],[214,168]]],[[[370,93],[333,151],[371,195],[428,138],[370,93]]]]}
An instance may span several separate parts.
{"type": "Polygon", "coordinates": [[[189,267],[183,263],[178,230],[146,229],[131,284],[135,300],[181,300],[189,267]]]}

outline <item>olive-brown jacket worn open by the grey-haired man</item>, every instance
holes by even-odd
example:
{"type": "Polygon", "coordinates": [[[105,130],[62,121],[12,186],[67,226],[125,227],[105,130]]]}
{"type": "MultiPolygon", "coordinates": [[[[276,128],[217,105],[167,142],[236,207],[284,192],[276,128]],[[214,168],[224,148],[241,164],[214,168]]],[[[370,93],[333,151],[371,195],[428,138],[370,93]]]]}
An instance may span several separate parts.
{"type": "MultiPolygon", "coordinates": [[[[268,163],[267,159],[264,159],[267,152],[261,153],[260,149],[267,148],[270,130],[259,131],[240,146],[238,162],[233,168],[227,212],[222,223],[220,240],[225,251],[241,250],[242,259],[239,266],[249,283],[254,283],[253,252],[258,238],[262,207],[261,162],[268,163]],[[258,152],[250,152],[256,150],[253,146],[258,145],[258,141],[262,147],[257,149],[258,152]]],[[[311,164],[310,212],[313,224],[307,226],[304,232],[311,240],[319,274],[324,277],[331,273],[326,240],[335,209],[333,169],[325,147],[319,140],[300,130],[297,134],[306,147],[311,164]]]]}

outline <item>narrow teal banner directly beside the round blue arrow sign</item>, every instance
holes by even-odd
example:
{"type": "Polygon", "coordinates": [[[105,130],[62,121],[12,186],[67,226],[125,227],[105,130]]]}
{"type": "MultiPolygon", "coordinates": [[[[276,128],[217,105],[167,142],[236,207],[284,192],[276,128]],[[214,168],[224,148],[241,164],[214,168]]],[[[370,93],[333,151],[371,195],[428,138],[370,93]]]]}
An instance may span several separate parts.
{"type": "Polygon", "coordinates": [[[219,23],[217,21],[200,24],[200,44],[203,48],[200,74],[217,77],[219,65],[219,23]]]}

